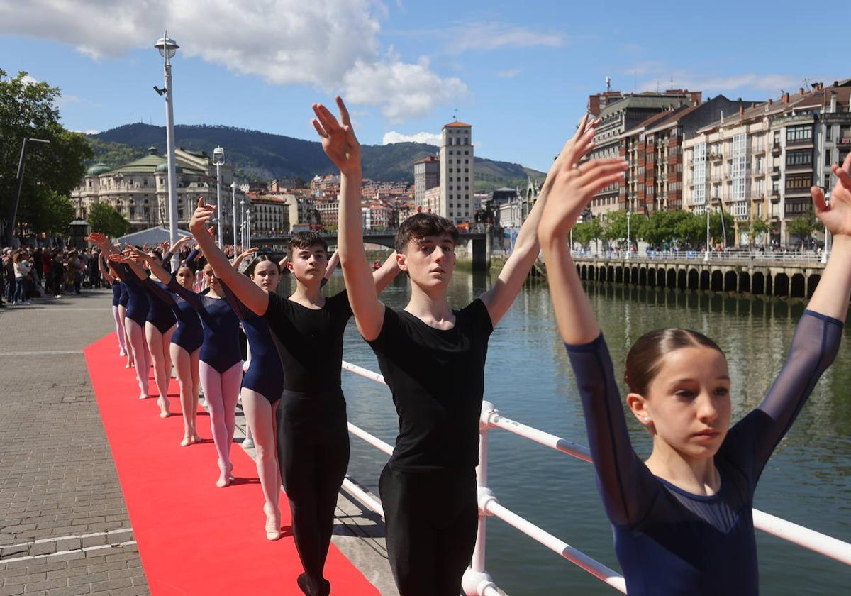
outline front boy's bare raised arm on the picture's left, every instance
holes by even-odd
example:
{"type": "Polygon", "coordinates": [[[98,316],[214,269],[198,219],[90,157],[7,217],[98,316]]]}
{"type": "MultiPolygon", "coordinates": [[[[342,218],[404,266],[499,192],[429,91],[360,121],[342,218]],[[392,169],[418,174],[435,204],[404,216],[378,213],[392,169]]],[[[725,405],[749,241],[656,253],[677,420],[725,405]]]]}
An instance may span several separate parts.
{"type": "Polygon", "coordinates": [[[363,249],[363,219],[361,216],[361,146],[351,128],[346,105],[337,98],[340,120],[328,108],[313,105],[317,117],[313,126],[322,138],[328,158],[340,168],[340,219],[338,246],[343,279],[349,294],[351,311],[355,314],[357,330],[367,341],[374,340],[384,324],[384,305],[378,299],[375,282],[363,249]]]}

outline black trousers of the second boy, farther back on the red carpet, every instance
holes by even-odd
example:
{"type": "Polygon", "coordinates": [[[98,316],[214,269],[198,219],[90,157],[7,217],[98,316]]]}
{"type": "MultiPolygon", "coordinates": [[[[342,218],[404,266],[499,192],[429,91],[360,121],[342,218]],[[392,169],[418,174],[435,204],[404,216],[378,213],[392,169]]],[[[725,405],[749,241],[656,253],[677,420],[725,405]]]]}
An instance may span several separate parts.
{"type": "Polygon", "coordinates": [[[325,593],[323,569],[334,509],[349,466],[346,401],[341,391],[284,390],[278,404],[277,454],[293,516],[293,537],[308,593],[325,593]]]}

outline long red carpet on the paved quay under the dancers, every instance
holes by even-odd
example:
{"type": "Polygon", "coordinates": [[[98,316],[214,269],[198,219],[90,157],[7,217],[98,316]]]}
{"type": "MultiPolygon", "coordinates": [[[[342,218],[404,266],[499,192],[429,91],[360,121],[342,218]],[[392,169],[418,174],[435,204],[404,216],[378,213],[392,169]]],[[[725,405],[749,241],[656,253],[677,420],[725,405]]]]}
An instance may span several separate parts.
{"type": "MultiPolygon", "coordinates": [[[[237,481],[216,488],[207,415],[198,417],[205,442],[180,447],[180,414],[162,420],[156,398],[136,397],[134,371],[124,369],[114,334],[87,347],[85,357],[151,594],[300,594],[287,500],[282,495],[284,537],[269,542],[257,468],[248,454],[234,444],[237,481]]],[[[168,394],[171,411],[179,412],[176,381],[168,394]]],[[[333,544],[325,576],[332,593],[379,594],[333,544]]]]}

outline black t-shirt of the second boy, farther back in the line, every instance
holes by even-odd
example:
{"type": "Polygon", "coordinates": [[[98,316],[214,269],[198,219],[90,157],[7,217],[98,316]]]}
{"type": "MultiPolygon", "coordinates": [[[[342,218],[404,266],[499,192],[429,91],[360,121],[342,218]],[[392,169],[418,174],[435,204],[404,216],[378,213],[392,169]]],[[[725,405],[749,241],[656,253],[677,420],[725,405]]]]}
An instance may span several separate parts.
{"type": "Polygon", "coordinates": [[[270,292],[263,318],[281,355],[284,389],[302,393],[340,390],[343,332],[351,318],[346,290],[326,298],[318,309],[270,292]]]}

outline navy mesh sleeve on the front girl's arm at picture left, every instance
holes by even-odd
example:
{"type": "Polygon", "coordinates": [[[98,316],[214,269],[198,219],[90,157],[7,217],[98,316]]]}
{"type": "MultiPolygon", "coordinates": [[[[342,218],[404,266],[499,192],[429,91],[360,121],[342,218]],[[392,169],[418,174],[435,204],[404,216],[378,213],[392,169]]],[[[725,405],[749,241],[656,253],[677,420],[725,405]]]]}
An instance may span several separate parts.
{"type": "Polygon", "coordinates": [[[603,335],[590,344],[565,347],[585,410],[585,428],[603,507],[613,524],[634,526],[647,515],[660,489],[632,450],[608,347],[603,335]]]}

